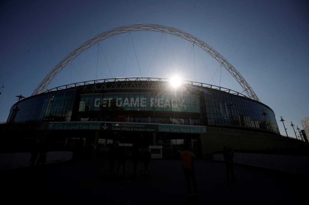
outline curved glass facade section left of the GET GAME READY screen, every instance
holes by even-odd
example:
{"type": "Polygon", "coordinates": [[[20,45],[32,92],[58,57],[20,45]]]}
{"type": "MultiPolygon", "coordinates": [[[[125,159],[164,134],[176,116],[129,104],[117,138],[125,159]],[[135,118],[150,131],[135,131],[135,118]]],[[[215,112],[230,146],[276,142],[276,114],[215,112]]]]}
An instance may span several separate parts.
{"type": "Polygon", "coordinates": [[[11,108],[9,118],[14,122],[70,121],[75,96],[76,90],[26,98],[11,108]]]}

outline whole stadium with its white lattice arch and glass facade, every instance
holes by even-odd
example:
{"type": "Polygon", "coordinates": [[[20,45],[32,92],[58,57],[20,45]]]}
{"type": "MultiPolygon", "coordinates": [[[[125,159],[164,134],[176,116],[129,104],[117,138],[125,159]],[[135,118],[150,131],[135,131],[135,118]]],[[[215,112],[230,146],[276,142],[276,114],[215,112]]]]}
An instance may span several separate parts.
{"type": "Polygon", "coordinates": [[[19,97],[6,124],[2,150],[53,150],[100,156],[109,146],[150,148],[159,159],[176,159],[184,144],[200,159],[223,146],[234,150],[295,150],[303,141],[282,136],[275,113],[260,102],[240,73],[212,47],[181,30],[136,24],[111,29],[79,46],[53,68],[32,96],[19,97]],[[66,65],[106,38],[153,31],[183,38],[216,59],[245,94],[203,82],[153,77],[83,81],[46,89],[66,65]],[[9,146],[7,146],[9,145],[9,146]]]}

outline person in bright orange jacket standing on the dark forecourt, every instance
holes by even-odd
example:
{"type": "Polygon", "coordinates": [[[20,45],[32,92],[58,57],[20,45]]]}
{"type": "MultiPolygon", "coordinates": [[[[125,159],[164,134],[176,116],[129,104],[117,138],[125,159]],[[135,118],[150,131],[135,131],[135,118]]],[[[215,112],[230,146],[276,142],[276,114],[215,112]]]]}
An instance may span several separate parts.
{"type": "Polygon", "coordinates": [[[190,183],[190,177],[193,182],[193,188],[195,191],[195,195],[198,195],[197,191],[197,183],[195,179],[195,170],[194,170],[194,164],[193,159],[195,158],[195,155],[192,152],[188,151],[188,147],[184,146],[184,151],[180,153],[180,156],[182,158],[182,168],[184,169],[184,176],[186,177],[187,187],[188,187],[188,196],[192,196],[191,191],[191,183],[190,183]]]}

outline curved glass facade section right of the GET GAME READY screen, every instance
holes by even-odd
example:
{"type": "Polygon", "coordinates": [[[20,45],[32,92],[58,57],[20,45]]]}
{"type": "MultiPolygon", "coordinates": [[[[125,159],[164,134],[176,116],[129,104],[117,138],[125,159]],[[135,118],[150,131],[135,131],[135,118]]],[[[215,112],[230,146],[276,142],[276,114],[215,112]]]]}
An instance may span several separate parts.
{"type": "Polygon", "coordinates": [[[208,124],[238,125],[279,133],[274,112],[265,105],[229,94],[204,90],[208,124]]]}

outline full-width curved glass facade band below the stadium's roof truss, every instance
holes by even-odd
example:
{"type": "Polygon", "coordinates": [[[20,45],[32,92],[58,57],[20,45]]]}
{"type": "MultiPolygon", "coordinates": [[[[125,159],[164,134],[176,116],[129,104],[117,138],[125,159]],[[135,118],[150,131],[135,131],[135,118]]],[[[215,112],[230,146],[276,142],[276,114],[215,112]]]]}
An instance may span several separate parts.
{"type": "Polygon", "coordinates": [[[189,92],[184,95],[56,91],[16,103],[11,108],[8,122],[71,121],[74,114],[79,116],[76,120],[99,120],[100,111],[108,111],[108,115],[117,111],[112,116],[116,118],[111,119],[115,121],[148,123],[155,120],[155,123],[243,126],[279,133],[273,110],[263,103],[206,89],[193,95],[189,92]],[[153,111],[154,107],[156,113],[150,115],[149,111],[153,111]]]}

